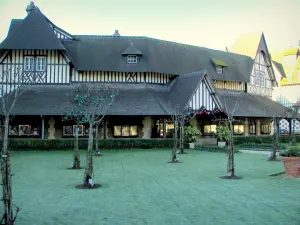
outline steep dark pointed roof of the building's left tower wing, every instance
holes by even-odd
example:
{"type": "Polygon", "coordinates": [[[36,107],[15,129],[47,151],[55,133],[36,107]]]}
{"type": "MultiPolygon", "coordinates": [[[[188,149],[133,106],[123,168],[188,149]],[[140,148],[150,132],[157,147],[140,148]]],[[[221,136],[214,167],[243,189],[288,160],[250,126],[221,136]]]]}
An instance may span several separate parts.
{"type": "Polygon", "coordinates": [[[46,17],[36,8],[22,21],[12,21],[18,29],[9,32],[0,49],[64,50],[46,17]]]}

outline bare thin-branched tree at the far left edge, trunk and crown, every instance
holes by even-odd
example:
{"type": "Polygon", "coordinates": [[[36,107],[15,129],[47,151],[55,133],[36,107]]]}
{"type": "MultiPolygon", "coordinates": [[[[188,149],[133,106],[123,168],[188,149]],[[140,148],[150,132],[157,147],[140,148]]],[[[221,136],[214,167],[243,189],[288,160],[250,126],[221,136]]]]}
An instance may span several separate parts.
{"type": "Polygon", "coordinates": [[[1,175],[2,175],[2,195],[4,204],[4,213],[1,224],[14,224],[19,207],[16,207],[16,213],[13,212],[12,199],[12,173],[10,161],[10,149],[8,146],[9,121],[13,116],[13,109],[20,96],[27,90],[27,85],[31,80],[25,76],[21,68],[17,68],[14,72],[11,70],[4,71],[1,74],[1,116],[4,120],[3,139],[2,139],[2,154],[1,154],[1,175]]]}

